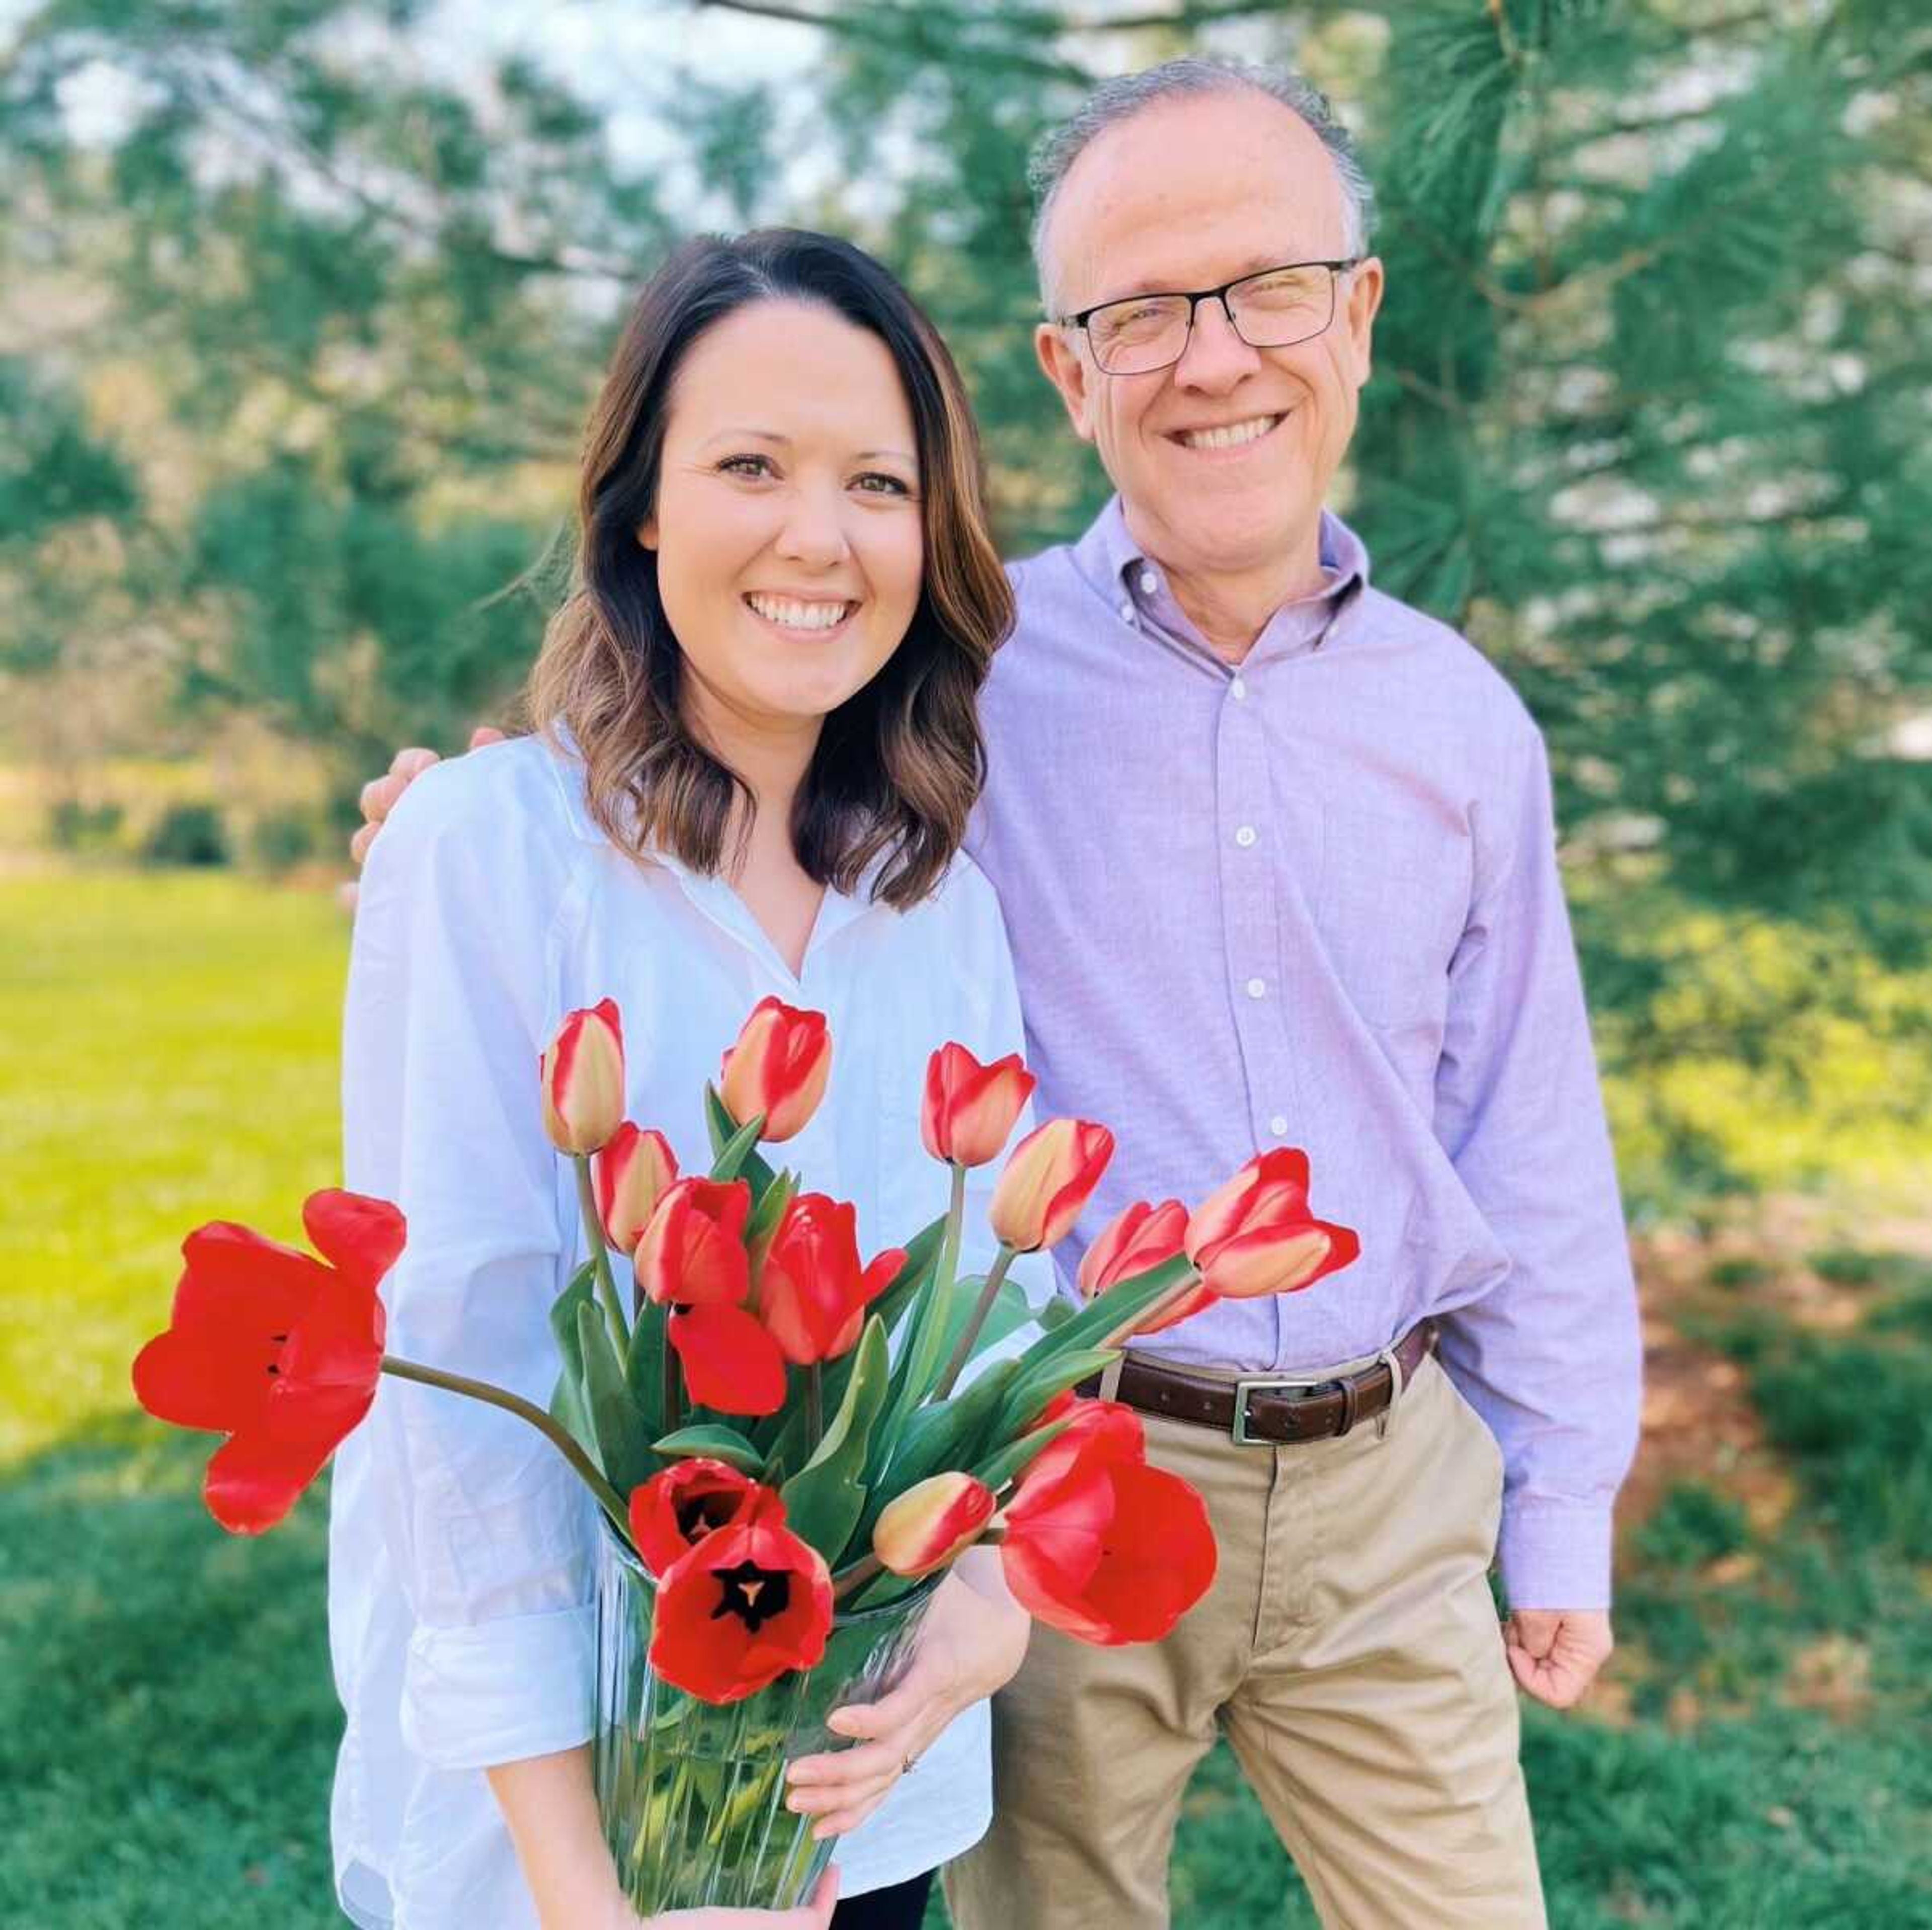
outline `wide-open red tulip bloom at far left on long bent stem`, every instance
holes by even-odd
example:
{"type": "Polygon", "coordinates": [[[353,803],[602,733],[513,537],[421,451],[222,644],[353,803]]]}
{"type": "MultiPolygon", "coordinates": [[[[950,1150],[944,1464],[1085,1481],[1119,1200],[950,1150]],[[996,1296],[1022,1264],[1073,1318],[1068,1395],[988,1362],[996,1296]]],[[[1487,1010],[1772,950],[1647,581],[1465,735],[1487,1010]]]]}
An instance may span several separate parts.
{"type": "Polygon", "coordinates": [[[383,1370],[377,1287],[402,1252],[402,1213],[330,1190],[309,1194],[301,1225],[323,1260],[228,1221],[197,1227],[168,1331],[133,1362],[149,1414],[228,1435],[203,1495],[234,1534],[261,1534],[296,1505],[369,1412],[383,1370]]]}

